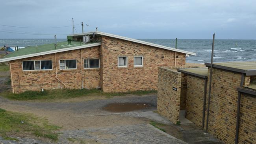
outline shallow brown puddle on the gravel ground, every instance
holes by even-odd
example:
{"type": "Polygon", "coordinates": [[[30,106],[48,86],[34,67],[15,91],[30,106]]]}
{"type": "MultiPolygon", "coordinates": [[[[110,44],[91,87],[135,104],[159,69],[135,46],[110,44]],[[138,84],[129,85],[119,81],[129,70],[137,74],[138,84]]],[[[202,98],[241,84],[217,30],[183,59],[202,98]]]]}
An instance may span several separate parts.
{"type": "Polygon", "coordinates": [[[111,103],[103,109],[111,112],[126,112],[148,109],[150,107],[152,106],[148,103],[111,103]]]}

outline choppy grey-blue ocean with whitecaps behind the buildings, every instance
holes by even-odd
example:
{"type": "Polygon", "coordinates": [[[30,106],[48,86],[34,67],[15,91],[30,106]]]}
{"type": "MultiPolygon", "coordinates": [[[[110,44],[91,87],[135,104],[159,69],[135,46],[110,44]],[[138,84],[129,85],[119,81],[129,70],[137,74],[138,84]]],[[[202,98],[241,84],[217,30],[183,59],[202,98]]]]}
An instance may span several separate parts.
{"type": "MultiPolygon", "coordinates": [[[[175,39],[139,40],[175,48],[175,39]]],[[[57,39],[57,41],[66,41],[66,39],[57,39]]],[[[50,43],[54,43],[54,39],[0,39],[0,47],[6,45],[22,48],[50,43]]],[[[197,54],[187,57],[188,63],[209,63],[211,44],[211,39],[178,39],[177,48],[197,54]]],[[[213,61],[256,61],[256,40],[215,39],[213,61]]]]}

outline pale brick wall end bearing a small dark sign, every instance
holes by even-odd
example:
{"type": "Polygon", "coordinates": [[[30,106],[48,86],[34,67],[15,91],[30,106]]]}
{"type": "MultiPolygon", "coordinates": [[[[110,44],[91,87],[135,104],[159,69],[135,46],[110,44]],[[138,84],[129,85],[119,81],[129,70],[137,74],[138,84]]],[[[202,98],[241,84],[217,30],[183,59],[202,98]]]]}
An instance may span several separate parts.
{"type": "Polygon", "coordinates": [[[169,68],[158,69],[158,113],[176,124],[180,115],[181,73],[169,68]],[[173,87],[177,89],[173,90],[173,87]]]}

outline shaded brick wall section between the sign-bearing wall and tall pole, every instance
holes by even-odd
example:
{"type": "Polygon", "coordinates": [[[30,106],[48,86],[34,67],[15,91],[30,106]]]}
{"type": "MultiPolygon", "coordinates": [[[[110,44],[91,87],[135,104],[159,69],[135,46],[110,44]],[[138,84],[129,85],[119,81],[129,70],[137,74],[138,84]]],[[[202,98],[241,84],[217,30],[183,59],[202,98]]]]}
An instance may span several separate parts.
{"type": "Polygon", "coordinates": [[[204,79],[187,76],[186,118],[202,127],[204,79]]]}

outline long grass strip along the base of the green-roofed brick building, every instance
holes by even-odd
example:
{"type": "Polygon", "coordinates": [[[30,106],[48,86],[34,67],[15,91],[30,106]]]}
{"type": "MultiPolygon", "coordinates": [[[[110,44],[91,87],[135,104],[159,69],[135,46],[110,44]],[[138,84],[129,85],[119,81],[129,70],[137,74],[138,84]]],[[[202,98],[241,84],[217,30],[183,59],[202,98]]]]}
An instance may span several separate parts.
{"type": "Polygon", "coordinates": [[[68,99],[82,96],[125,96],[127,94],[145,95],[156,93],[156,90],[137,90],[131,92],[103,92],[98,89],[55,89],[41,91],[26,91],[19,94],[11,92],[2,92],[1,95],[12,100],[54,100],[54,99],[68,99]]]}

